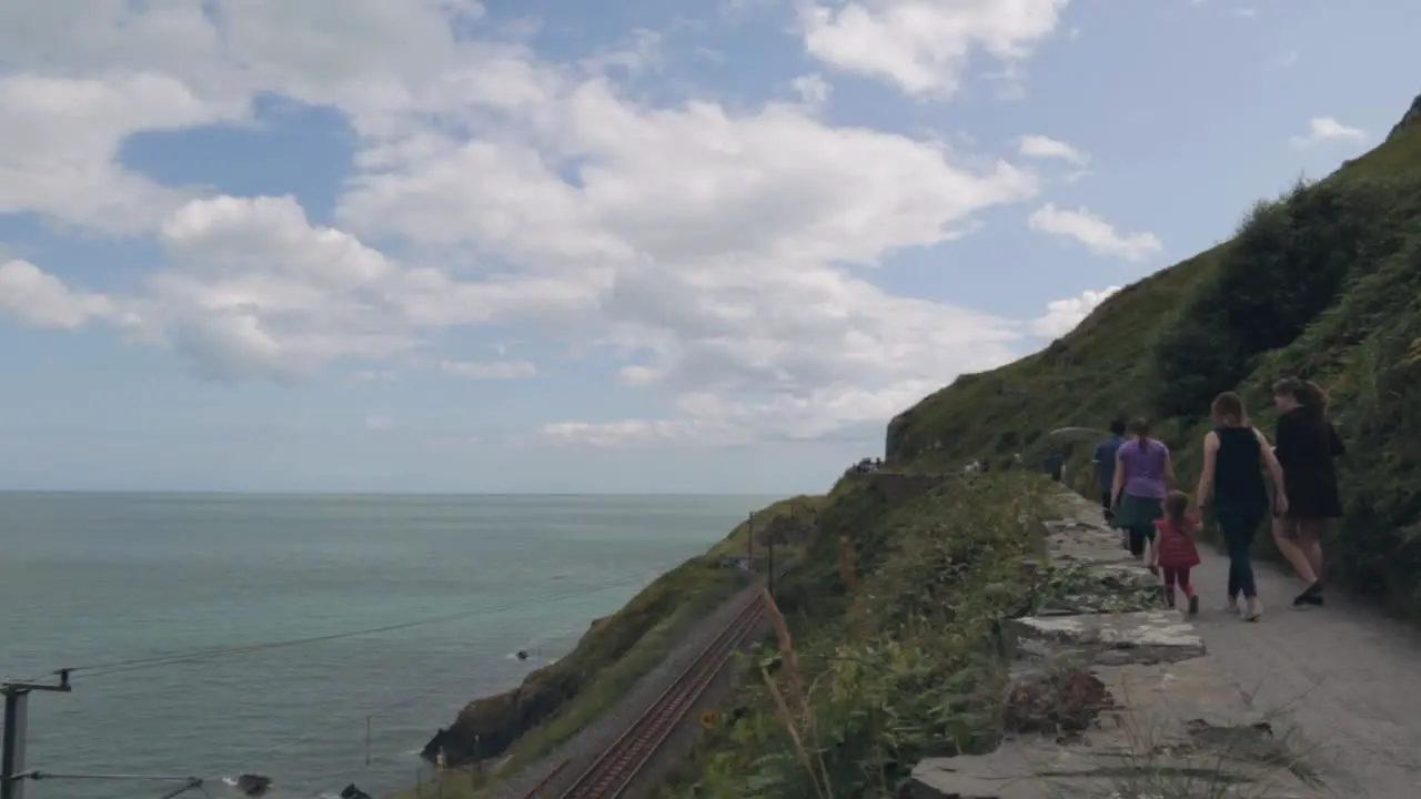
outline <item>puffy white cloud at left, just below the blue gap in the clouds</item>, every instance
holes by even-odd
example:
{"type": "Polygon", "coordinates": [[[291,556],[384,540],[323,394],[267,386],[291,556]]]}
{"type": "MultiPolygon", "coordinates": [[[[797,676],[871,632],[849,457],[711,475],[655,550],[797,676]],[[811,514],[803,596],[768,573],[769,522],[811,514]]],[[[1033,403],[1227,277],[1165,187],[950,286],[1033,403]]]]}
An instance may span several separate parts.
{"type": "Polygon", "coordinates": [[[7,273],[30,287],[18,297],[67,309],[48,318],[74,327],[114,320],[122,309],[126,324],[148,341],[176,348],[217,380],[306,377],[341,358],[411,353],[429,328],[593,301],[550,281],[473,283],[406,267],[348,233],[311,226],[291,198],[189,202],[162,223],[162,242],[171,269],[131,297],[81,294],[44,273],[30,274],[28,264],[7,273]]]}

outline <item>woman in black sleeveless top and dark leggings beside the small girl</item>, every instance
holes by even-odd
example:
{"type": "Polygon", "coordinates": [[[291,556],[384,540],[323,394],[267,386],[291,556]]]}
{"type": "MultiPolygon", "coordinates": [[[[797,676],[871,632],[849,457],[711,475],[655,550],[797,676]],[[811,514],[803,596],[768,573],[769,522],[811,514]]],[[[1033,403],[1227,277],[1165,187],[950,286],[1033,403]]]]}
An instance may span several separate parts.
{"type": "Polygon", "coordinates": [[[1229,554],[1228,608],[1239,611],[1239,594],[1245,607],[1239,611],[1245,621],[1263,616],[1253,577],[1253,536],[1268,518],[1268,486],[1263,469],[1273,478],[1273,512],[1287,512],[1285,469],[1273,456],[1268,438],[1248,422],[1243,400],[1232,391],[1214,398],[1211,408],[1214,429],[1204,436],[1204,471],[1195,492],[1199,508],[1212,502],[1214,519],[1223,532],[1229,554]]]}

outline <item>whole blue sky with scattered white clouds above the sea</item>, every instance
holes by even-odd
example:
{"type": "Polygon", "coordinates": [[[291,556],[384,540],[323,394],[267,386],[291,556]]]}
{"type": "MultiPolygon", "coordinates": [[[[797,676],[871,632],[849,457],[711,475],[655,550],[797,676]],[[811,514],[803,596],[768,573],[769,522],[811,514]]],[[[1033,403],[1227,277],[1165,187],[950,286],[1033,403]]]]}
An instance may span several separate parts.
{"type": "Polygon", "coordinates": [[[823,490],[1374,146],[1415,30],[1414,0],[0,0],[0,489],[823,490]]]}

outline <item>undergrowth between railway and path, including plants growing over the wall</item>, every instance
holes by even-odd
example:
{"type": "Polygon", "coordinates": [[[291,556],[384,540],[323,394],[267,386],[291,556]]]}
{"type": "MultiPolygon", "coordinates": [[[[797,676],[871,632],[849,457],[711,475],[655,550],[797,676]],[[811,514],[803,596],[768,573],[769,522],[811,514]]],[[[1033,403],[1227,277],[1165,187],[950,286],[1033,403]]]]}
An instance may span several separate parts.
{"type": "Polygon", "coordinates": [[[1106,599],[1117,586],[1084,570],[1032,577],[1023,559],[1042,553],[1047,485],[1020,472],[949,479],[894,503],[874,482],[841,483],[820,513],[860,523],[855,587],[821,536],[776,597],[779,645],[742,658],[733,721],[662,795],[892,798],[922,758],[1086,726],[1107,702],[1098,681],[1077,670],[1012,684],[1002,623],[1061,601],[1140,610],[1160,594],[1106,599]]]}

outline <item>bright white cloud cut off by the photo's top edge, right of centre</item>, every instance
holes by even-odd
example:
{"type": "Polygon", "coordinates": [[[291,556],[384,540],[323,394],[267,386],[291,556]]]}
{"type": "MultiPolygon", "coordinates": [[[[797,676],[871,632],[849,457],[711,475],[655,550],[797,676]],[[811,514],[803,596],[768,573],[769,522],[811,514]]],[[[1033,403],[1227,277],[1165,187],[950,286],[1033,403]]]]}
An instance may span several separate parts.
{"type": "Polygon", "coordinates": [[[1009,68],[1050,36],[1067,0],[854,0],[800,10],[804,47],[820,61],[884,80],[909,95],[949,97],[973,51],[1009,68]]]}

